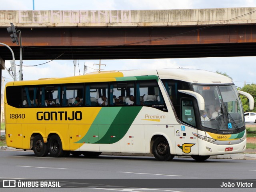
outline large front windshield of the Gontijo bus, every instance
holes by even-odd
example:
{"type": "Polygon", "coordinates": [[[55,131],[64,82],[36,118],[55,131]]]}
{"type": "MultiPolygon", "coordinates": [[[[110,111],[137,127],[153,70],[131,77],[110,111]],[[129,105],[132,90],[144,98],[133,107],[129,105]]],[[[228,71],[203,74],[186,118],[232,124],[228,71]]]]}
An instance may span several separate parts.
{"type": "Polygon", "coordinates": [[[205,102],[205,110],[200,111],[202,126],[216,129],[216,132],[244,126],[242,104],[235,85],[193,85],[193,88],[205,102]]]}

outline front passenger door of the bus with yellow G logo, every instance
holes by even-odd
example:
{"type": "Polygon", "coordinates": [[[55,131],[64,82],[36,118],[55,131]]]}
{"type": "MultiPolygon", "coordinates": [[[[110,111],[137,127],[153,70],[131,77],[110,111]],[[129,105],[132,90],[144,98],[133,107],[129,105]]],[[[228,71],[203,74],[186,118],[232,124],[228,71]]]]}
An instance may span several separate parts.
{"type": "Polygon", "coordinates": [[[193,135],[197,134],[196,116],[194,104],[196,102],[192,98],[181,99],[181,117],[184,123],[175,125],[175,142],[176,153],[183,155],[198,154],[198,138],[193,135]]]}

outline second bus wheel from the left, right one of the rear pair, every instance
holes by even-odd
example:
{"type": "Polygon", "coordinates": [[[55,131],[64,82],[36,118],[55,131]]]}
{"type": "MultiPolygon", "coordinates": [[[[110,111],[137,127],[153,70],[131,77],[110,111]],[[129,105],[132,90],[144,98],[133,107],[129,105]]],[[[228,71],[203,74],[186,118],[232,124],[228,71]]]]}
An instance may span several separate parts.
{"type": "Polygon", "coordinates": [[[49,152],[52,157],[62,157],[64,156],[64,150],[62,149],[62,142],[58,135],[53,135],[50,137],[48,142],[49,152]]]}

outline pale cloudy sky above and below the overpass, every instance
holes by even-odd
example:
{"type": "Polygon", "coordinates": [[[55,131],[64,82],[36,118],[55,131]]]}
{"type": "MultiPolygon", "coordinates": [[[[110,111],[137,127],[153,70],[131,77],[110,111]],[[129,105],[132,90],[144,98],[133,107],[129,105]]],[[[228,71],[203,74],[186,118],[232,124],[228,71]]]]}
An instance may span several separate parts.
{"type": "MultiPolygon", "coordinates": [[[[34,0],[35,10],[166,10],[166,9],[202,9],[256,7],[256,0],[34,0]]],[[[0,10],[32,10],[33,0],[0,0],[0,10]]],[[[178,58],[178,59],[141,59],[141,60],[101,60],[104,70],[131,70],[157,68],[196,68],[212,72],[222,72],[233,78],[238,87],[256,83],[256,57],[222,58],[178,58]]],[[[24,60],[23,65],[36,65],[49,60],[24,60]]],[[[84,65],[87,73],[96,71],[94,64],[99,60],[78,60],[76,75],[82,75],[84,65]],[[78,65],[79,63],[79,65],[78,65]]],[[[19,64],[19,60],[16,60],[19,64]]],[[[10,61],[5,62],[6,68],[10,61]]],[[[16,71],[19,71],[17,66],[16,71]]],[[[12,81],[7,70],[2,70],[5,81],[12,81]]],[[[23,67],[24,80],[39,78],[74,76],[73,60],[54,60],[44,65],[23,67]]]]}

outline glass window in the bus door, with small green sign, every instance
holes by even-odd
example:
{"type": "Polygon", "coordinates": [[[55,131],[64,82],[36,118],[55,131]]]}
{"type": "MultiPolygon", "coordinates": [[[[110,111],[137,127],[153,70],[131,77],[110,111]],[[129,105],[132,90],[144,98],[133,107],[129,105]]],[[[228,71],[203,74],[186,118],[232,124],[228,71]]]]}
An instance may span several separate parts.
{"type": "Polygon", "coordinates": [[[196,127],[196,118],[194,113],[194,105],[191,99],[181,100],[182,122],[196,127]]]}

